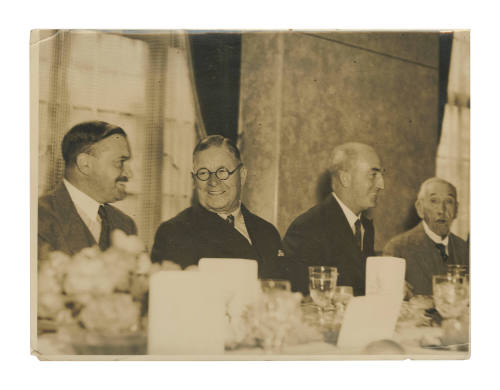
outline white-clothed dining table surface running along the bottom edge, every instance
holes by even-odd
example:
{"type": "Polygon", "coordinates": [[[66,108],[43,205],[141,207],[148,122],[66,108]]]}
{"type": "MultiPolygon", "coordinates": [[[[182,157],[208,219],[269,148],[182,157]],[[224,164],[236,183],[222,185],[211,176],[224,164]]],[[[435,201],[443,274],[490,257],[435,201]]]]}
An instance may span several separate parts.
{"type": "Polygon", "coordinates": [[[442,345],[441,326],[422,325],[415,320],[398,320],[390,339],[370,346],[339,347],[338,329],[317,335],[275,348],[247,345],[226,348],[222,354],[159,355],[147,353],[146,331],[137,332],[133,339],[118,336],[106,340],[101,348],[82,349],[69,333],[50,329],[37,335],[33,352],[41,360],[462,360],[469,357],[470,351],[468,342],[442,345]],[[135,348],[131,349],[131,345],[135,348]]]}

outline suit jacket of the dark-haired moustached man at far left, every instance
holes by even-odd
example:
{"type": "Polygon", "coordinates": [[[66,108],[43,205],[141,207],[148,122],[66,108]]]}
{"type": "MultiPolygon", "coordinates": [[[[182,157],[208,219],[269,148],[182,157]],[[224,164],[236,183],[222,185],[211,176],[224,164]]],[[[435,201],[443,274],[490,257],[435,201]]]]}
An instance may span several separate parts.
{"type": "MultiPolygon", "coordinates": [[[[121,229],[137,234],[132,218],[111,205],[105,205],[111,231],[121,229]]],[[[87,225],[76,211],[63,183],[38,199],[38,257],[59,250],[74,255],[83,248],[97,245],[87,225]]]]}

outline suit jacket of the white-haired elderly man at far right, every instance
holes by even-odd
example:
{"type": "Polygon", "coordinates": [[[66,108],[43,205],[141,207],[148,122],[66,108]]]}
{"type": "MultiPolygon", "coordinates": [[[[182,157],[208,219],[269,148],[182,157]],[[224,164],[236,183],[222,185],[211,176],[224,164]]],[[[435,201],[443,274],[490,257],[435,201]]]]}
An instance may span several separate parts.
{"type": "Polygon", "coordinates": [[[447,264],[468,266],[468,252],[466,242],[450,233],[449,257],[444,262],[436,244],[425,234],[422,223],[392,238],[384,248],[384,254],[406,259],[406,280],[413,286],[414,294],[424,295],[432,294],[432,276],[446,274],[447,264]]]}

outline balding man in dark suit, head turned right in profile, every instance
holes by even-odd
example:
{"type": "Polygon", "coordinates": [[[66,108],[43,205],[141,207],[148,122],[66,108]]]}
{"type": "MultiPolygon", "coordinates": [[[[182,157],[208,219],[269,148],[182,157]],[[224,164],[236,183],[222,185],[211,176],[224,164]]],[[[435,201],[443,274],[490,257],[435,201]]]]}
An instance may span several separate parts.
{"type": "Polygon", "coordinates": [[[383,169],[375,150],[350,142],[337,146],[330,159],[333,192],[298,216],[284,239],[285,273],[294,290],[308,292],[308,266],[337,267],[338,284],[365,291],[366,257],[374,255],[374,228],[364,211],[377,204],[384,189],[383,169]]]}

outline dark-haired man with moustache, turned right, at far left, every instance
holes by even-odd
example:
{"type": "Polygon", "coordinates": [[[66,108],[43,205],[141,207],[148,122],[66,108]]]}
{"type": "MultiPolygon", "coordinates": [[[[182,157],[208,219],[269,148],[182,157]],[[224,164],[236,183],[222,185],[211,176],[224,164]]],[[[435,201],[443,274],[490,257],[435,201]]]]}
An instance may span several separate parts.
{"type": "Polygon", "coordinates": [[[80,123],[64,136],[62,155],[63,181],[38,200],[39,258],[96,244],[105,250],[114,229],[136,234],[134,221],[109,204],[125,198],[132,175],[125,131],[106,122],[80,123]]]}

